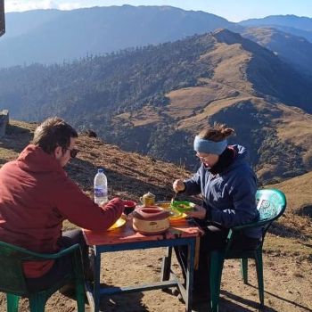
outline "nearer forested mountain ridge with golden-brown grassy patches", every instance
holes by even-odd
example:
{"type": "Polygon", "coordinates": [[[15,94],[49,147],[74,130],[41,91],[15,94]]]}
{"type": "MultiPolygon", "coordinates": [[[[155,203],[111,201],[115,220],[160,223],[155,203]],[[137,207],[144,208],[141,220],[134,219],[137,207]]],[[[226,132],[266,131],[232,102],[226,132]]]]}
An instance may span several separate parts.
{"type": "Polygon", "coordinates": [[[107,142],[191,168],[193,135],[208,122],[237,130],[261,181],[312,168],[312,80],[227,29],[88,56],[0,70],[0,103],[15,119],[51,114],[107,142]],[[174,144],[173,144],[174,143],[174,144]]]}

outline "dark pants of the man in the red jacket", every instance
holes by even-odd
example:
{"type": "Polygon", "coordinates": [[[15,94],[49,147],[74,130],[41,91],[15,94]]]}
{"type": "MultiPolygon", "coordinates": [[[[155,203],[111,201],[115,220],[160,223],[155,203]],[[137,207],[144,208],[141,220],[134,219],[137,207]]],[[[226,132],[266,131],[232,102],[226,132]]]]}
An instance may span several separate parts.
{"type": "MultiPolygon", "coordinates": [[[[58,241],[61,250],[78,243],[82,251],[85,272],[89,268],[88,247],[81,230],[71,230],[62,233],[58,241]]],[[[45,275],[37,278],[27,278],[26,283],[29,291],[40,291],[51,287],[54,283],[62,280],[64,275],[73,270],[70,256],[65,256],[54,261],[53,267],[45,275]]]]}

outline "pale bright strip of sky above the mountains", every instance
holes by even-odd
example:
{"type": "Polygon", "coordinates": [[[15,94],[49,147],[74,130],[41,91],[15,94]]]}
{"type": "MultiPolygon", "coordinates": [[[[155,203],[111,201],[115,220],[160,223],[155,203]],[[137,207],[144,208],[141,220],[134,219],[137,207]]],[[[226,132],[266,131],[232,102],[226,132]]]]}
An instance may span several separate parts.
{"type": "Polygon", "coordinates": [[[4,0],[5,12],[36,9],[72,10],[110,5],[171,5],[184,10],[204,11],[242,21],[267,15],[294,14],[312,17],[312,0],[4,0]]]}

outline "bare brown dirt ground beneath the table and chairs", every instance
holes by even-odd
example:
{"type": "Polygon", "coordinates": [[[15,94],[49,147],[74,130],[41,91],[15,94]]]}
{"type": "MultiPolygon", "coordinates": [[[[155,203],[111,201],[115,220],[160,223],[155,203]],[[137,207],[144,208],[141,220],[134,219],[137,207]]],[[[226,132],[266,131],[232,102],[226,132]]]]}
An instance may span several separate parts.
{"type": "MultiPolygon", "coordinates": [[[[156,282],[160,277],[164,249],[118,251],[103,257],[102,282],[108,285],[129,285],[156,282]]],[[[177,268],[177,261],[174,262],[177,268]]],[[[312,311],[311,263],[289,256],[265,255],[265,304],[259,309],[255,267],[249,266],[250,284],[244,285],[237,260],[227,260],[222,279],[220,311],[312,311]],[[277,261],[276,261],[277,260],[277,261]]],[[[75,311],[76,301],[59,292],[46,304],[45,311],[75,311]]],[[[5,311],[4,295],[0,297],[0,311],[5,311]]],[[[28,300],[21,301],[20,311],[28,311],[28,300]]],[[[90,308],[86,305],[86,312],[90,308]]],[[[177,297],[163,291],[144,291],[103,298],[101,311],[107,312],[182,312],[185,306],[177,297]]],[[[208,304],[193,307],[193,311],[209,311],[208,304]]]]}

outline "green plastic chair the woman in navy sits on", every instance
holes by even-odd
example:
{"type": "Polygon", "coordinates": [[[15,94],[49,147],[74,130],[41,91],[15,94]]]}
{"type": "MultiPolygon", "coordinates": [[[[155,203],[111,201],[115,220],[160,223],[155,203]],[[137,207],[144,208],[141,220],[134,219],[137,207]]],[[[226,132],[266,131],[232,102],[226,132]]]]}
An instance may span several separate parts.
{"type": "Polygon", "coordinates": [[[260,304],[264,306],[264,284],[262,246],[267,234],[267,229],[272,222],[283,215],[286,208],[285,195],[276,189],[258,190],[256,193],[259,209],[259,221],[243,226],[235,226],[230,229],[227,236],[227,244],[224,250],[212,250],[210,252],[210,308],[212,312],[218,312],[218,300],[220,295],[220,284],[222,269],[225,259],[241,259],[241,273],[244,283],[248,283],[248,259],[255,259],[258,276],[258,289],[260,304]],[[231,248],[234,235],[242,229],[250,227],[262,227],[262,240],[254,250],[234,250],[231,248]]]}

